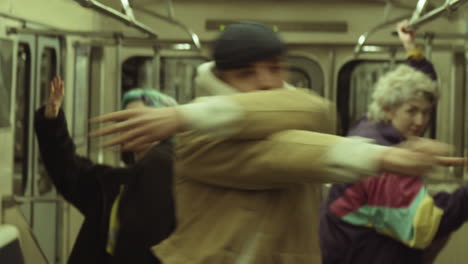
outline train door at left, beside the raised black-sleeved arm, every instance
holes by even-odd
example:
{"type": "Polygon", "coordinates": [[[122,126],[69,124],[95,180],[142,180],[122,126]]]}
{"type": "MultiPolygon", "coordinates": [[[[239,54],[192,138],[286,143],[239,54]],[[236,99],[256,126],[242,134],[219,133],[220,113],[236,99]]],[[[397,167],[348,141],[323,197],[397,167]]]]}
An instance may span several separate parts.
{"type": "Polygon", "coordinates": [[[49,81],[59,73],[60,42],[19,35],[16,68],[14,191],[20,209],[49,263],[60,263],[60,204],[40,160],[33,118],[48,96],[49,81]]]}

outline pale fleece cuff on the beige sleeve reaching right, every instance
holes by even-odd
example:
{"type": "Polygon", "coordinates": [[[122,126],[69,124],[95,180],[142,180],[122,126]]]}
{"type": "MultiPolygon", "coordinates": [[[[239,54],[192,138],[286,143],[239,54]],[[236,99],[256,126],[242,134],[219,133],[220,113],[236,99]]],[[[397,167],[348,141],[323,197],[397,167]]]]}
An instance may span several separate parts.
{"type": "Polygon", "coordinates": [[[380,169],[380,157],[387,149],[372,140],[350,137],[340,140],[327,152],[327,171],[333,181],[353,182],[375,176],[380,169]]]}

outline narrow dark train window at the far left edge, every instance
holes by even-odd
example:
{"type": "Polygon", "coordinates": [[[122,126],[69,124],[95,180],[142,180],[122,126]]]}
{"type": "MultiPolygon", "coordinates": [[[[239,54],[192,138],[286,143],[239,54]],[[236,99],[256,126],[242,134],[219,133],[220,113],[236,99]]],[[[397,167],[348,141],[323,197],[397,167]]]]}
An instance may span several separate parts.
{"type": "Polygon", "coordinates": [[[0,40],[0,127],[10,126],[13,42],[0,40]]]}

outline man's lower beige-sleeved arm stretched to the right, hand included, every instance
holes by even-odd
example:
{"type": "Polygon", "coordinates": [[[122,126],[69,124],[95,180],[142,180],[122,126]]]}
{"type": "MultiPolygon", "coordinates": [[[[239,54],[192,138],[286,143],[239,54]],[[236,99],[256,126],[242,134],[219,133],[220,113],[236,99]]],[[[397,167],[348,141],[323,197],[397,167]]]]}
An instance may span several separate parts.
{"type": "Polygon", "coordinates": [[[262,140],[216,141],[187,133],[176,141],[179,176],[239,189],[356,182],[379,172],[421,176],[440,163],[409,149],[300,130],[262,140]]]}

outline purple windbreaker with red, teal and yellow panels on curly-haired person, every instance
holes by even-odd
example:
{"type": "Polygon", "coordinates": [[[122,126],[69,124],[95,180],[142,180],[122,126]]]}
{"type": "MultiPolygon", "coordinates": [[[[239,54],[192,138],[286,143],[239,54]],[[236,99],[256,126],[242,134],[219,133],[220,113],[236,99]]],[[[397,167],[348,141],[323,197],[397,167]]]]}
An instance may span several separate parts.
{"type": "MultiPolygon", "coordinates": [[[[391,125],[365,117],[349,136],[386,146],[404,140],[391,125]]],[[[335,184],[321,212],[323,263],[418,263],[442,216],[419,177],[386,173],[335,184]]]]}

